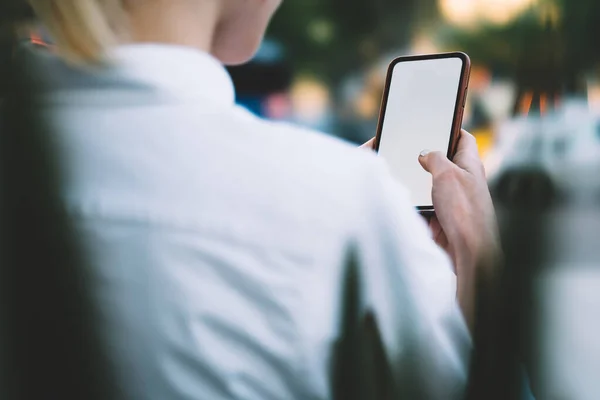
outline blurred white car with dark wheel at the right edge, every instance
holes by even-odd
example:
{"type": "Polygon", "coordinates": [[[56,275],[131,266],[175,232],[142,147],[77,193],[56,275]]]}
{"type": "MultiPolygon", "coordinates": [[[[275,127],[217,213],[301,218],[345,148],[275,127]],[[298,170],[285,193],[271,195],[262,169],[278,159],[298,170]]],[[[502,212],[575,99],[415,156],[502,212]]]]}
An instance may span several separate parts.
{"type": "Polygon", "coordinates": [[[507,122],[485,161],[501,205],[548,207],[600,194],[600,119],[587,103],[566,102],[543,117],[507,122]]]}

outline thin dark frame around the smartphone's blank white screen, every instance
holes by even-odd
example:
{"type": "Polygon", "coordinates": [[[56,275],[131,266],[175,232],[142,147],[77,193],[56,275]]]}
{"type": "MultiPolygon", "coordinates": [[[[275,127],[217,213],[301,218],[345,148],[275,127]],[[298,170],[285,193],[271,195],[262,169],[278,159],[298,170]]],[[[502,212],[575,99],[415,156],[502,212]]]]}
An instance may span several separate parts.
{"type": "MultiPolygon", "coordinates": [[[[387,75],[385,79],[385,88],[383,92],[383,98],[381,100],[381,108],[379,110],[379,120],[377,122],[377,134],[375,136],[375,143],[373,149],[379,152],[379,144],[381,142],[381,134],[383,131],[383,122],[385,120],[385,113],[387,111],[388,98],[390,94],[390,86],[392,83],[392,76],[394,68],[397,64],[402,62],[414,62],[414,61],[429,61],[439,60],[446,58],[459,58],[462,61],[462,69],[460,72],[460,82],[458,86],[458,93],[456,95],[456,103],[454,105],[454,116],[452,119],[452,129],[449,132],[450,140],[448,141],[448,152],[447,157],[452,160],[456,154],[458,148],[458,141],[460,140],[460,131],[462,127],[463,116],[465,112],[465,104],[467,102],[467,92],[469,89],[469,79],[471,76],[471,59],[463,52],[451,52],[451,53],[438,53],[438,54],[424,54],[416,56],[402,56],[397,57],[390,62],[388,66],[387,75]]],[[[416,155],[415,155],[416,157],[416,155]]],[[[434,207],[431,206],[417,206],[417,210],[424,215],[433,215],[434,207]]]]}

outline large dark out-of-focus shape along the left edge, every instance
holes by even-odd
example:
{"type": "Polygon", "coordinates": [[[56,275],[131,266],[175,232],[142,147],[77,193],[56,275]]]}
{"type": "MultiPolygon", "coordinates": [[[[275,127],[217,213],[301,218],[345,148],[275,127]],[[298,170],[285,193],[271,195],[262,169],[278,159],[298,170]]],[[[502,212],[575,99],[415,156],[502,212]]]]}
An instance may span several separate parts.
{"type": "Polygon", "coordinates": [[[2,38],[0,94],[0,398],[117,399],[85,261],[59,204],[51,136],[2,38]]]}

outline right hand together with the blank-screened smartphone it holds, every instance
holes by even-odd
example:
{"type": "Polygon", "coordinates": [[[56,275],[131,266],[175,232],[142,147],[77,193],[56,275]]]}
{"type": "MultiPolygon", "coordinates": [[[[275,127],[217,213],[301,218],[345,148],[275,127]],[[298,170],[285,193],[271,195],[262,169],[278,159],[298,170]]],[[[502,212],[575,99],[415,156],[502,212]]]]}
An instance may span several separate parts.
{"type": "Polygon", "coordinates": [[[469,71],[462,53],[394,60],[374,149],[409,189],[413,205],[433,216],[434,239],[454,262],[458,302],[472,328],[476,283],[493,279],[500,251],[477,144],[460,129],[469,71]],[[423,150],[430,152],[420,156],[423,150]]]}

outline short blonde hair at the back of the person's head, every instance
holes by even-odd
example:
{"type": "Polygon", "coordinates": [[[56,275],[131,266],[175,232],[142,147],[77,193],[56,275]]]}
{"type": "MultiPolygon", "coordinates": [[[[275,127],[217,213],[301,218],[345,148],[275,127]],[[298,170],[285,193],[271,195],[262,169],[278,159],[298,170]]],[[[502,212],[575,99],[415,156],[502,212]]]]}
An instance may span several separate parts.
{"type": "Polygon", "coordinates": [[[102,62],[122,35],[123,0],[29,0],[57,49],[78,64],[102,62]]]}

